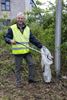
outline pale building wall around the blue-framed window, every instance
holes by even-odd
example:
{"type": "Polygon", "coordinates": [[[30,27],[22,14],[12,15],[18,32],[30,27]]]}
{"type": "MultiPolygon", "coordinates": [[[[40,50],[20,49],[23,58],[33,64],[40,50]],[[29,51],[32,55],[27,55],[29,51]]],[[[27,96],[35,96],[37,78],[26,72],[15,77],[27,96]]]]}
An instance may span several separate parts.
{"type": "Polygon", "coordinates": [[[4,14],[8,15],[9,19],[16,17],[18,12],[25,11],[25,0],[10,0],[10,11],[1,11],[1,0],[0,0],[0,18],[4,14]]]}

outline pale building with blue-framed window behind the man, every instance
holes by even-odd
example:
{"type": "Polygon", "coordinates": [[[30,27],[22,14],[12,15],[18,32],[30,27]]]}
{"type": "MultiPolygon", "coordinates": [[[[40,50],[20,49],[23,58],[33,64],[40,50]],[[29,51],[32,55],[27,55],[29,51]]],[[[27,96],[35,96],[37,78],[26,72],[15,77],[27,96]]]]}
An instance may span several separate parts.
{"type": "Polygon", "coordinates": [[[32,10],[32,0],[0,0],[0,18],[13,19],[18,12],[32,10]]]}

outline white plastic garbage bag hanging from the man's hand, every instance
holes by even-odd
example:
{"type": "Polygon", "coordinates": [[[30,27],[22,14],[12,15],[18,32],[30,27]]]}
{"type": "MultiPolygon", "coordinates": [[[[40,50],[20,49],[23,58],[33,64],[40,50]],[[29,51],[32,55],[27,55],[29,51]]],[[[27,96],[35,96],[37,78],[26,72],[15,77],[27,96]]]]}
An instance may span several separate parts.
{"type": "Polygon", "coordinates": [[[51,82],[51,69],[50,69],[50,65],[53,63],[52,61],[52,55],[50,53],[50,51],[43,46],[41,48],[41,65],[42,65],[42,69],[43,69],[43,79],[45,82],[51,82]]]}

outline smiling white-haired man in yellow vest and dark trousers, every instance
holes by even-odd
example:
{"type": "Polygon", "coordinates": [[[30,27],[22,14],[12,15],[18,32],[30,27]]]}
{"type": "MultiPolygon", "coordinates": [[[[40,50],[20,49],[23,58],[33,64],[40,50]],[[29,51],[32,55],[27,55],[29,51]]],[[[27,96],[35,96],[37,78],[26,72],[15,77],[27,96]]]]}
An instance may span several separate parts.
{"type": "Polygon", "coordinates": [[[35,83],[34,80],[35,76],[35,62],[32,58],[32,55],[30,53],[29,43],[34,44],[38,48],[42,48],[42,44],[34,37],[32,32],[30,31],[30,28],[25,25],[25,16],[19,12],[16,17],[16,24],[10,26],[8,29],[5,41],[8,44],[11,44],[12,46],[12,54],[15,57],[15,75],[16,75],[16,84],[17,87],[21,86],[21,62],[24,58],[29,66],[29,83],[35,83]],[[18,44],[23,43],[23,45],[18,44]]]}

